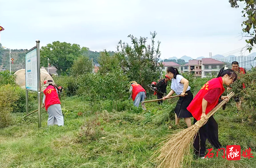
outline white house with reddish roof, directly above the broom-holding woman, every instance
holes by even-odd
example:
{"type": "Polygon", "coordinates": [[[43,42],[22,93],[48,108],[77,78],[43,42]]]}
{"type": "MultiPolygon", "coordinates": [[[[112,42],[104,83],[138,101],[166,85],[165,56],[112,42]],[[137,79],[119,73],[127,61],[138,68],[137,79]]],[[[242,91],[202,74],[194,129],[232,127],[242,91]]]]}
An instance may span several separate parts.
{"type": "Polygon", "coordinates": [[[202,58],[202,78],[207,75],[218,75],[221,68],[225,67],[225,62],[212,58],[202,58]]]}

